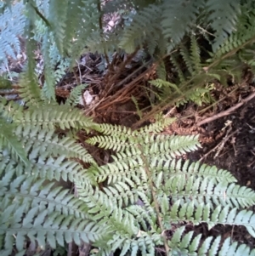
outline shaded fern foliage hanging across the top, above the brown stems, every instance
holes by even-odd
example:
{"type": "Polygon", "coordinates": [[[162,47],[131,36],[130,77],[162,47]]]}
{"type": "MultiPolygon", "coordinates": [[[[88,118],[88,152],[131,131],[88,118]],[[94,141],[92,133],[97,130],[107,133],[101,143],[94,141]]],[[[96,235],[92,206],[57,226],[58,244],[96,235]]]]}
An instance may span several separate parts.
{"type": "MultiPolygon", "coordinates": [[[[177,49],[177,52],[170,55],[170,60],[173,71],[178,73],[178,81],[170,81],[169,71],[163,71],[162,62],[158,74],[160,79],[165,80],[167,77],[167,82],[176,85],[171,89],[162,87],[159,100],[177,100],[178,105],[189,100],[199,105],[210,102],[212,99],[207,96],[200,99],[201,95],[209,93],[204,85],[213,82],[214,79],[224,83],[221,77],[223,70],[225,75],[232,76],[231,69],[238,65],[238,61],[251,66],[252,70],[254,68],[252,52],[241,50],[243,46],[252,43],[254,37],[255,14],[252,3],[246,1],[225,1],[224,5],[219,0],[123,0],[118,1],[118,4],[115,4],[115,1],[100,4],[97,0],[52,0],[43,3],[29,0],[23,4],[10,3],[8,6],[11,6],[12,12],[4,5],[0,19],[3,19],[1,24],[4,25],[1,32],[6,31],[12,35],[3,35],[2,38],[12,42],[1,41],[1,55],[14,56],[14,52],[19,52],[18,36],[34,38],[42,43],[45,75],[42,98],[50,102],[55,101],[56,83],[66,68],[74,65],[76,58],[84,51],[111,55],[118,50],[133,53],[137,48],[146,48],[151,57],[160,60],[162,56],[177,49]],[[26,12],[23,12],[25,8],[26,12]],[[123,22],[107,30],[105,17],[111,14],[119,14],[123,22]],[[18,22],[17,19],[13,19],[17,15],[21,20],[19,26],[7,26],[7,22],[18,22]],[[211,54],[214,56],[209,60],[209,64],[202,60],[201,50],[204,49],[197,43],[197,40],[201,39],[201,33],[207,39],[208,34],[214,37],[208,39],[210,48],[206,49],[206,54],[210,54],[212,49],[211,54]],[[185,43],[187,36],[190,40],[185,43]],[[230,62],[232,64],[229,66],[229,62],[224,62],[224,59],[234,56],[236,51],[240,52],[240,57],[237,58],[239,60],[230,62]],[[179,61],[180,57],[184,66],[179,61]],[[207,70],[207,66],[210,69],[205,72],[203,68],[207,70]]],[[[27,40],[27,48],[30,48],[30,44],[31,42],[27,40]]],[[[31,54],[28,56],[29,61],[31,54]]],[[[7,61],[7,58],[3,59],[7,61]]],[[[34,72],[30,68],[29,77],[26,77],[25,82],[30,79],[33,81],[32,73],[34,72]]],[[[240,77],[240,74],[236,74],[236,77],[240,77]]]]}

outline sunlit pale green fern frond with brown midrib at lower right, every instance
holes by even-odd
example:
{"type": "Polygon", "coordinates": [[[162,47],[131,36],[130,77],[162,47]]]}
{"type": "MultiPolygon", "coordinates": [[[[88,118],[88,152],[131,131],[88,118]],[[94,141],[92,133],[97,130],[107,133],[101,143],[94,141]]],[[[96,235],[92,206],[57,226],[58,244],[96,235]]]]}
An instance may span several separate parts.
{"type": "MultiPolygon", "coordinates": [[[[106,134],[110,134],[110,130],[111,126],[104,128],[106,134]]],[[[133,146],[132,150],[128,146],[122,146],[121,149],[114,146],[113,148],[116,151],[120,151],[116,156],[112,156],[114,162],[102,167],[89,169],[88,177],[96,183],[107,181],[109,187],[109,189],[108,187],[105,188],[107,196],[112,197],[112,193],[123,195],[115,196],[116,201],[114,202],[116,205],[123,207],[123,205],[132,204],[134,198],[140,198],[144,204],[130,206],[127,208],[127,211],[138,218],[139,225],[143,227],[144,232],[147,232],[147,234],[149,232],[146,223],[150,223],[150,228],[156,228],[157,218],[155,208],[152,205],[159,203],[161,219],[165,229],[170,228],[170,223],[181,224],[184,221],[190,221],[194,225],[206,222],[209,228],[217,224],[244,225],[253,234],[254,215],[251,211],[242,210],[242,208],[253,205],[254,191],[235,185],[236,179],[227,171],[218,170],[215,167],[209,167],[207,165],[200,165],[199,162],[192,164],[188,161],[183,163],[182,160],[175,162],[173,158],[178,156],[180,152],[184,153],[184,150],[173,150],[171,146],[166,148],[166,145],[169,143],[169,145],[182,147],[180,138],[176,138],[176,142],[168,142],[166,136],[157,135],[153,139],[151,137],[151,140],[149,138],[146,139],[146,137],[143,138],[143,143],[140,138],[131,139],[133,134],[127,129],[116,129],[116,127],[112,126],[112,133],[119,138],[118,144],[122,141],[127,141],[127,137],[124,135],[125,133],[128,134],[130,141],[134,142],[137,140],[138,145],[133,146]],[[113,131],[118,131],[119,135],[113,131]],[[150,145],[149,150],[147,149],[147,144],[150,141],[154,145],[150,145]],[[134,148],[137,149],[134,150],[134,148]],[[156,155],[154,157],[154,154],[161,149],[168,152],[170,156],[168,156],[168,160],[163,156],[156,155]],[[145,170],[146,164],[144,161],[147,162],[146,164],[150,168],[150,176],[148,176],[149,174],[145,170]],[[153,186],[156,190],[156,202],[150,196],[150,179],[153,180],[153,186]],[[162,184],[164,185],[162,186],[162,184]],[[116,188],[115,185],[117,185],[116,188]],[[131,194],[128,192],[128,187],[132,188],[130,191],[131,194]],[[127,193],[133,198],[132,200],[127,199],[127,193]],[[169,198],[172,199],[173,205],[169,205],[169,198]],[[143,210],[143,205],[146,206],[146,211],[143,210]]],[[[101,140],[99,137],[96,137],[99,145],[105,148],[112,145],[111,139],[107,142],[105,135],[102,138],[104,138],[105,145],[101,145],[101,140]]],[[[190,138],[191,140],[194,140],[194,138],[190,138]]],[[[90,139],[88,142],[95,143],[95,140],[90,139]]],[[[183,146],[188,151],[195,150],[193,146],[190,147],[188,144],[183,146]]],[[[184,227],[182,230],[184,230],[184,227]]],[[[180,236],[177,234],[180,233],[177,232],[175,236],[180,236]]],[[[189,239],[192,238],[191,233],[189,237],[189,239]]],[[[213,243],[211,243],[211,237],[201,244],[201,237],[197,236],[191,246],[190,243],[182,242],[181,245],[178,243],[176,248],[174,248],[175,239],[173,238],[171,242],[168,242],[173,252],[175,250],[176,252],[184,250],[183,253],[189,255],[192,252],[199,254],[209,253],[209,251],[210,253],[220,251],[218,246],[220,237],[213,243]],[[201,245],[199,246],[199,244],[201,245]]],[[[163,242],[161,241],[162,244],[163,242]]],[[[237,253],[237,251],[235,252],[236,247],[236,243],[231,245],[234,254],[237,253]]],[[[246,247],[246,250],[249,251],[248,247],[246,247]]],[[[222,252],[224,252],[224,249],[222,249],[222,252]]]]}

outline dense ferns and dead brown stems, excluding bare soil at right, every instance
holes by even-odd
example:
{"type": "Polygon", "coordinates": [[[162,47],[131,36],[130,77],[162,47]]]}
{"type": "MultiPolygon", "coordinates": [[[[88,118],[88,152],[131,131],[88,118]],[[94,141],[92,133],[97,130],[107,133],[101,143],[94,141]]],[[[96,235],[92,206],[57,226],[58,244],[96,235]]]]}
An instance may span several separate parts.
{"type": "Polygon", "coordinates": [[[255,191],[188,160],[198,135],[166,133],[172,107],[213,105],[216,84],[253,80],[254,4],[1,2],[0,254],[255,255],[199,229],[255,238],[255,191]],[[94,118],[126,99],[136,122],[94,118]]]}

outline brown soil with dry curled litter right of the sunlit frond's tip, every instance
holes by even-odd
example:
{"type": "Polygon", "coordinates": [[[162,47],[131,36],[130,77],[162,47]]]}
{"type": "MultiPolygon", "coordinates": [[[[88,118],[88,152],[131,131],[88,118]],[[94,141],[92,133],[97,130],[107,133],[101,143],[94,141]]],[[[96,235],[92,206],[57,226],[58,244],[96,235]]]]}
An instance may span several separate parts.
{"type": "MultiPolygon", "coordinates": [[[[253,85],[250,88],[253,90],[253,85]]],[[[243,93],[239,92],[236,96],[240,99],[244,98],[247,92],[243,93]]],[[[230,104],[234,103],[225,102],[224,105],[218,106],[218,112],[220,112],[219,108],[226,109],[230,104]]],[[[229,170],[238,180],[239,185],[246,185],[255,190],[255,99],[253,98],[241,108],[231,112],[229,116],[218,118],[201,127],[195,127],[194,122],[190,122],[187,126],[181,121],[187,109],[173,115],[178,116],[179,121],[168,128],[167,133],[200,134],[201,149],[190,153],[188,158],[229,170]]],[[[211,115],[213,116],[212,113],[211,115]]],[[[207,114],[204,116],[203,118],[207,118],[207,114]]],[[[251,209],[254,210],[255,207],[251,209]]],[[[217,225],[212,230],[207,230],[207,225],[199,225],[190,227],[190,230],[202,233],[205,238],[219,235],[224,238],[230,236],[232,242],[244,242],[250,247],[254,247],[255,244],[255,239],[249,235],[246,228],[241,226],[217,225]]]]}

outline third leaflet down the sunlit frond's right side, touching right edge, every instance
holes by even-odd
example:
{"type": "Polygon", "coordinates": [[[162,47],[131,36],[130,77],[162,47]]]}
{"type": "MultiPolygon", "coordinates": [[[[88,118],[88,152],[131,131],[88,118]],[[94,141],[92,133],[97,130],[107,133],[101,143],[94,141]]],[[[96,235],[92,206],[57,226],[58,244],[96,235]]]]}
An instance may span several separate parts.
{"type": "Polygon", "coordinates": [[[240,185],[226,185],[222,179],[219,183],[213,178],[195,179],[191,176],[186,181],[184,176],[175,176],[168,179],[163,191],[170,196],[168,190],[171,190],[173,202],[182,200],[182,202],[194,202],[197,206],[201,202],[213,205],[229,206],[230,208],[247,208],[254,204],[255,193],[251,189],[240,185]]]}

